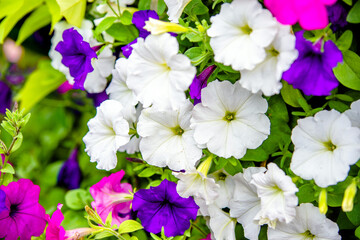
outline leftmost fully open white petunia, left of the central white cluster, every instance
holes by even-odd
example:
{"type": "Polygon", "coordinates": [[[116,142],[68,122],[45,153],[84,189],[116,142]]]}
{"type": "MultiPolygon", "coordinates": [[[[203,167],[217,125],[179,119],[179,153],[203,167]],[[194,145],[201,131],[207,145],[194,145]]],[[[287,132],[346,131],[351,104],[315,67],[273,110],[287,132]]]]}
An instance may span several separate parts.
{"type": "Polygon", "coordinates": [[[96,108],[96,116],[88,122],[89,132],[83,138],[85,152],[98,169],[116,167],[116,152],[129,142],[129,124],[123,117],[121,103],[106,100],[96,108]]]}

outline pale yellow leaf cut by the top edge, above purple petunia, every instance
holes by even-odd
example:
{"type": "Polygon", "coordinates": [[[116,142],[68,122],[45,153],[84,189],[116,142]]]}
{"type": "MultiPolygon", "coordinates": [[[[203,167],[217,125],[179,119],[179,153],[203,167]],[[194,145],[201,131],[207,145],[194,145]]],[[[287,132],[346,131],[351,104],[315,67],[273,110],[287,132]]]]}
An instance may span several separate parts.
{"type": "Polygon", "coordinates": [[[86,0],[56,0],[60,13],[68,23],[80,28],[85,16],[86,0]]]}

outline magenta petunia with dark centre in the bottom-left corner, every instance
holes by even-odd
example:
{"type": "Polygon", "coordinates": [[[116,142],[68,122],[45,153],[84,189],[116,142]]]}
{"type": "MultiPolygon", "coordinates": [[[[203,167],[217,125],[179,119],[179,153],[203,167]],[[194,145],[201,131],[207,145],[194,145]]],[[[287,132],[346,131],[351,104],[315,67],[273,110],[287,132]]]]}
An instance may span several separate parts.
{"type": "Polygon", "coordinates": [[[0,212],[0,238],[30,240],[40,236],[47,221],[45,209],[39,204],[40,187],[29,179],[19,179],[0,189],[6,194],[7,208],[0,212]]]}

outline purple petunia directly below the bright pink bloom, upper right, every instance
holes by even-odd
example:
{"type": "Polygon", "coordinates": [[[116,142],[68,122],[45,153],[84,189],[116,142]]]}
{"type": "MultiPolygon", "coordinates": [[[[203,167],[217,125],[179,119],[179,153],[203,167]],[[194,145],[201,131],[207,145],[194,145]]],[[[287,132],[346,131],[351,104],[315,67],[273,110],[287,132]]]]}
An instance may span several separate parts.
{"type": "Polygon", "coordinates": [[[295,34],[299,57],[283,74],[283,79],[306,95],[330,95],[331,90],[339,85],[332,69],[342,62],[341,51],[331,40],[324,43],[322,51],[322,40],[313,44],[303,37],[303,33],[295,34]]]}

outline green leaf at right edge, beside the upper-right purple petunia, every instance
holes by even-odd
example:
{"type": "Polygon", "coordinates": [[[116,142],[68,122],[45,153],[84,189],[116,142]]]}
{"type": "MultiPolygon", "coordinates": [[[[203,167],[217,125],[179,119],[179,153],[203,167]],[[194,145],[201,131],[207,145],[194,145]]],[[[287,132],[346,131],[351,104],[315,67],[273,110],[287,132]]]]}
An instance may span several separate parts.
{"type": "Polygon", "coordinates": [[[343,58],[344,63],[338,64],[338,66],[333,69],[334,74],[342,85],[359,91],[360,57],[356,53],[348,50],[343,52],[343,58]]]}

